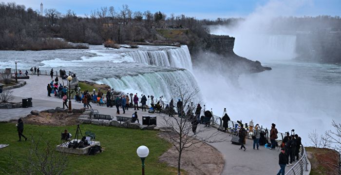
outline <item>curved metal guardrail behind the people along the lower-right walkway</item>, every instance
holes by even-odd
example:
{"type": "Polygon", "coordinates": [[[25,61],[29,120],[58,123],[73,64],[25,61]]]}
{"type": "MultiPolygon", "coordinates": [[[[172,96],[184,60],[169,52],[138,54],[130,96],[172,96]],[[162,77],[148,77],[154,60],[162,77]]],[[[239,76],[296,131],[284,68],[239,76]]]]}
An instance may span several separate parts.
{"type": "MultiPolygon", "coordinates": [[[[211,121],[213,124],[219,125],[219,127],[223,126],[221,117],[213,115],[213,117],[211,118],[211,121]]],[[[228,121],[228,128],[233,129],[235,123],[237,123],[237,122],[229,120],[228,121]]],[[[266,133],[265,137],[268,139],[269,130],[267,131],[267,128],[264,129],[262,126],[261,126],[261,130],[266,133]]],[[[277,142],[279,145],[282,144],[282,140],[283,140],[284,136],[285,135],[283,133],[278,132],[277,142]]],[[[247,137],[250,138],[251,136],[247,135],[247,137]]],[[[300,159],[289,169],[289,171],[287,171],[285,173],[285,175],[303,175],[304,172],[308,171],[307,170],[308,157],[307,157],[307,153],[306,153],[303,145],[301,145],[300,153],[301,153],[300,159]]]]}

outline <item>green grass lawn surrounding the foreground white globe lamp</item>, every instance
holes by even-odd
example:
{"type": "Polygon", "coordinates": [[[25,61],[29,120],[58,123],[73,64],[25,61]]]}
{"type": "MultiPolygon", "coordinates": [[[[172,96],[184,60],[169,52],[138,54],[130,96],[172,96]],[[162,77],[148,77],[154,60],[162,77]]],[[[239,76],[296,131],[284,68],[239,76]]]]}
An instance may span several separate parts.
{"type": "MultiPolygon", "coordinates": [[[[15,173],[14,163],[11,158],[23,160],[31,142],[18,142],[18,134],[14,123],[0,123],[0,143],[10,146],[0,149],[0,174],[1,169],[9,174],[15,173]]],[[[60,133],[64,129],[75,136],[76,126],[40,126],[25,125],[23,134],[30,138],[43,133],[46,140],[54,145],[60,143],[60,133]]],[[[84,134],[91,131],[96,134],[96,140],[101,142],[103,152],[95,156],[70,155],[68,157],[69,167],[63,173],[65,175],[140,175],[141,160],[136,154],[140,145],[149,148],[149,156],[146,158],[145,172],[147,175],[171,175],[176,169],[160,163],[158,157],[170,148],[170,143],[159,138],[156,131],[142,131],[136,129],[125,129],[105,127],[97,125],[80,125],[84,134]]]]}

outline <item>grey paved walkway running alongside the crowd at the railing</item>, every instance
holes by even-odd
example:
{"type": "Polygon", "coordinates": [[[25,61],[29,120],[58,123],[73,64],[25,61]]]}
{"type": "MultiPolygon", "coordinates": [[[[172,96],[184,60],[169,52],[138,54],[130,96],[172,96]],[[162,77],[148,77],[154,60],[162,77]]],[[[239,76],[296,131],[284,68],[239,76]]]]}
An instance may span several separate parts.
{"type": "MultiPolygon", "coordinates": [[[[32,97],[33,106],[30,108],[17,108],[17,109],[0,109],[0,121],[9,119],[18,119],[24,117],[31,112],[31,110],[45,110],[54,109],[57,106],[62,107],[62,100],[56,97],[47,97],[46,86],[51,81],[49,76],[33,76],[26,80],[27,84],[21,88],[14,89],[14,95],[16,96],[14,101],[21,101],[22,97],[32,97]]],[[[101,114],[107,114],[115,116],[116,108],[107,108],[106,106],[92,105],[94,109],[97,109],[101,114]]],[[[76,103],[72,100],[73,108],[82,108],[82,103],[76,103]]],[[[122,109],[120,108],[122,113],[122,109]]],[[[134,110],[130,108],[126,111],[126,114],[120,116],[131,117],[134,110]]],[[[148,112],[138,111],[140,123],[142,123],[142,116],[150,115],[148,112]]],[[[158,116],[157,114],[155,116],[158,116]]],[[[157,125],[162,125],[161,117],[157,117],[157,125]]],[[[198,127],[203,127],[199,125],[198,127]]],[[[206,134],[212,134],[216,132],[215,128],[210,128],[206,134]]],[[[199,136],[200,137],[200,136],[199,136]]],[[[229,141],[231,136],[226,133],[219,133],[216,139],[224,138],[227,141],[212,143],[218,151],[220,151],[225,159],[225,167],[222,175],[265,175],[276,174],[279,170],[277,150],[269,150],[260,146],[260,150],[252,149],[252,140],[246,140],[246,151],[239,150],[239,145],[233,145],[229,141]]],[[[203,157],[205,158],[205,157],[203,157]]],[[[289,167],[286,168],[289,170],[289,167]]]]}

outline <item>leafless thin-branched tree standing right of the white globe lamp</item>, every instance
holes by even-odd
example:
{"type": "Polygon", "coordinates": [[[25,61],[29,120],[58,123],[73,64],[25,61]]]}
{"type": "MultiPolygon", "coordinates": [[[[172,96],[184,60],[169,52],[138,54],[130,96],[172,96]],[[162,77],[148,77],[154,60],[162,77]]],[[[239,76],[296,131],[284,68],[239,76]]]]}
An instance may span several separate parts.
{"type": "Polygon", "coordinates": [[[177,109],[178,111],[186,111],[186,116],[183,117],[168,117],[166,115],[160,115],[163,119],[163,126],[168,130],[166,137],[170,140],[173,146],[178,151],[178,175],[180,175],[181,169],[181,155],[184,150],[193,150],[198,147],[195,145],[206,142],[222,142],[223,138],[218,136],[219,131],[208,127],[198,126],[197,120],[193,116],[195,105],[191,105],[194,97],[199,92],[198,89],[190,90],[185,86],[178,86],[177,96],[182,101],[182,107],[177,109]],[[197,128],[196,128],[197,127],[197,128]],[[196,131],[195,131],[196,129],[196,131]],[[218,136],[218,137],[217,137],[218,136]]]}

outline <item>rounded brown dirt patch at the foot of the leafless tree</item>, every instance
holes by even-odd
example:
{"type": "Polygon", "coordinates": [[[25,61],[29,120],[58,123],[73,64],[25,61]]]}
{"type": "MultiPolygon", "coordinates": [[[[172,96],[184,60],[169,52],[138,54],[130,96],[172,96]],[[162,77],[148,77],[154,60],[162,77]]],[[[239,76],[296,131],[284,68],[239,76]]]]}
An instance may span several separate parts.
{"type": "MultiPolygon", "coordinates": [[[[165,133],[161,132],[158,136],[171,142],[165,133]]],[[[159,159],[177,168],[178,154],[179,152],[175,147],[172,147],[159,159]]],[[[189,150],[185,150],[181,156],[181,169],[185,170],[189,175],[220,175],[224,169],[224,163],[223,155],[206,143],[193,145],[189,150]]]]}

